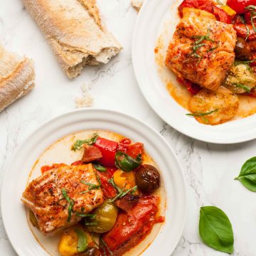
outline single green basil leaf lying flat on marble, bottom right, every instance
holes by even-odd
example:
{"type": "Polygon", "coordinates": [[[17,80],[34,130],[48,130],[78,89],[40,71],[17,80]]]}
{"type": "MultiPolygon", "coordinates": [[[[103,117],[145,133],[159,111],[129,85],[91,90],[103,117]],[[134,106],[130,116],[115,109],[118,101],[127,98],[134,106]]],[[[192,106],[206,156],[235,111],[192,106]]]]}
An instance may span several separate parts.
{"type": "Polygon", "coordinates": [[[215,206],[201,207],[199,233],[203,242],[220,252],[234,251],[233,229],[223,210],[215,206]]]}

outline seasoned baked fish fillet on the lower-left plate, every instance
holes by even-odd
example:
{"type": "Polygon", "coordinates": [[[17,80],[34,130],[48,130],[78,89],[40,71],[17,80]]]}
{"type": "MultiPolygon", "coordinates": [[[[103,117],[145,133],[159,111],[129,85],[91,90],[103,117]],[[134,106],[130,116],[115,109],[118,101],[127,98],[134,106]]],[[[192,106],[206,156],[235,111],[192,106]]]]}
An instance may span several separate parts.
{"type": "Polygon", "coordinates": [[[50,235],[78,223],[77,213],[89,213],[104,200],[96,171],[87,164],[46,171],[29,183],[21,201],[35,214],[41,232],[50,235]]]}

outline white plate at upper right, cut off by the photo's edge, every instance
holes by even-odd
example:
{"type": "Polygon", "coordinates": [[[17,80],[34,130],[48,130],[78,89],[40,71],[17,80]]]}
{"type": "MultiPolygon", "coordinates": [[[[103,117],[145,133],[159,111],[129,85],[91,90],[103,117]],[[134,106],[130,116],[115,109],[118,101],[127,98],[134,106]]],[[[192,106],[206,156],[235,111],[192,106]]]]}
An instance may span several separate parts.
{"type": "MultiPolygon", "coordinates": [[[[144,97],[161,119],[178,132],[194,139],[216,144],[233,144],[255,139],[256,114],[217,126],[200,124],[194,118],[186,116],[188,111],[169,95],[166,85],[159,78],[154,48],[166,21],[169,22],[166,40],[171,40],[179,20],[177,8],[180,3],[181,0],[147,0],[139,11],[134,31],[132,59],[134,72],[144,97]]],[[[176,82],[175,76],[172,82],[176,82]]]]}

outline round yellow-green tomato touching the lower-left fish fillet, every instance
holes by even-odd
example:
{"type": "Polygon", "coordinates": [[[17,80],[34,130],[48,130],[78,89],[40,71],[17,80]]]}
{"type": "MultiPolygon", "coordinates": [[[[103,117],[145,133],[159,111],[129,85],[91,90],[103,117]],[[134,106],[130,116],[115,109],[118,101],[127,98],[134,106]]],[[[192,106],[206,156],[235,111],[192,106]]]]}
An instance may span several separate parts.
{"type": "Polygon", "coordinates": [[[85,220],[87,230],[93,233],[105,233],[114,227],[118,214],[117,206],[114,203],[105,201],[94,213],[96,214],[95,218],[85,220]]]}

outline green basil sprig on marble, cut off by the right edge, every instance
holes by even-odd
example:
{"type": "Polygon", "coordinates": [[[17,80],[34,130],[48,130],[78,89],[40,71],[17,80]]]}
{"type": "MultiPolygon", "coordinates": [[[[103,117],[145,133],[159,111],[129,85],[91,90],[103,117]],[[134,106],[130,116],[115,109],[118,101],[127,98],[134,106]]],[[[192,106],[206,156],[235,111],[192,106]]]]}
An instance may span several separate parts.
{"type": "Polygon", "coordinates": [[[243,164],[240,174],[235,180],[240,181],[250,191],[256,192],[256,156],[243,164]]]}

